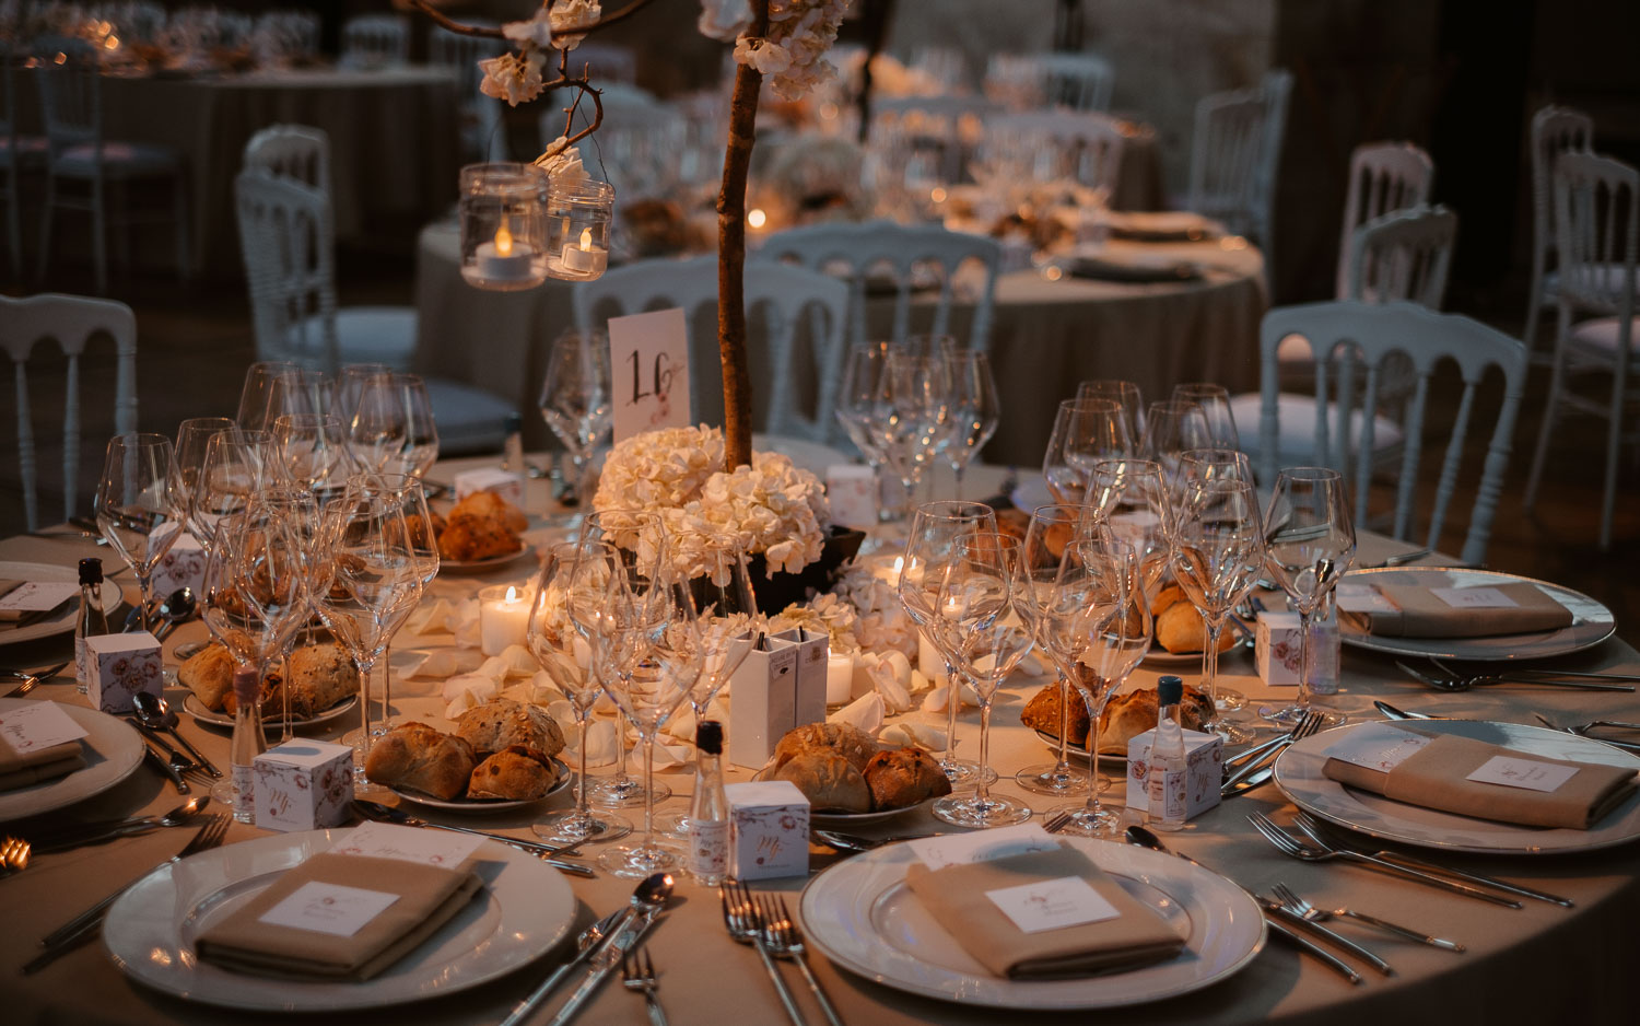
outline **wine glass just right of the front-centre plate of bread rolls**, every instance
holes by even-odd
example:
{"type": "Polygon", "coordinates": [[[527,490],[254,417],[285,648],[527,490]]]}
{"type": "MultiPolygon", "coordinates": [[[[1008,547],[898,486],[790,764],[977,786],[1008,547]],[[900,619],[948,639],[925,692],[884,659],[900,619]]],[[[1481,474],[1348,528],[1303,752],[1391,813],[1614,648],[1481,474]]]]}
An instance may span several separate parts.
{"type": "Polygon", "coordinates": [[[940,591],[938,604],[948,611],[946,619],[963,639],[953,680],[959,675],[979,699],[979,772],[974,773],[974,791],[946,795],[933,803],[933,814],[953,826],[1009,826],[1023,822],[1032,814],[1025,803],[991,793],[992,699],[1002,680],[1035,644],[1014,609],[1018,573],[1018,538],[973,534],[954,542],[951,573],[940,591]]]}

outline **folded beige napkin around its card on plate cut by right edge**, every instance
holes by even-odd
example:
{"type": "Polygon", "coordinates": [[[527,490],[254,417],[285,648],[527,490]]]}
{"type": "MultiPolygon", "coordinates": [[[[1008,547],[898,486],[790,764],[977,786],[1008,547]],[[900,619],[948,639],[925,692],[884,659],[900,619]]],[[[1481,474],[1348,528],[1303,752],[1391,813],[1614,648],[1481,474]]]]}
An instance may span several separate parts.
{"type": "Polygon", "coordinates": [[[1469,737],[1438,734],[1387,773],[1342,758],[1328,758],[1322,773],[1384,798],[1443,813],[1517,822],[1520,826],[1586,831],[1633,793],[1633,770],[1517,752],[1469,737]],[[1553,791],[1468,780],[1487,760],[1506,755],[1578,772],[1553,791]]]}

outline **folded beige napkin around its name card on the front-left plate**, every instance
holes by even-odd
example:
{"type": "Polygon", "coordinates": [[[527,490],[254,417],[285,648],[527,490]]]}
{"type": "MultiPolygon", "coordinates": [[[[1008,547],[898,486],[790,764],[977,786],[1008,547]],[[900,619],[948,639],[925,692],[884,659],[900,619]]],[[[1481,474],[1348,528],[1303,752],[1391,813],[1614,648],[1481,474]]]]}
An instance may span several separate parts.
{"type": "Polygon", "coordinates": [[[200,934],[198,955],[213,965],[262,977],[369,980],[415,950],[459,913],[479,886],[479,877],[467,868],[320,852],[200,934]],[[312,882],[399,898],[348,937],[261,921],[312,882]]]}

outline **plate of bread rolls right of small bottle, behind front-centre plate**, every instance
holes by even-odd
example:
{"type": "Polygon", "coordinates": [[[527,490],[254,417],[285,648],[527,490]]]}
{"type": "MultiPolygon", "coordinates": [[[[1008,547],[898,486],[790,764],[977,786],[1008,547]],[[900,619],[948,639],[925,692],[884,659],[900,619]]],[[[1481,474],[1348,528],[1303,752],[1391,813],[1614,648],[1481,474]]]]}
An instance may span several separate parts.
{"type": "Polygon", "coordinates": [[[951,793],[927,749],[884,749],[858,727],[807,724],[787,731],[758,780],[789,780],[822,827],[877,822],[951,793]]]}

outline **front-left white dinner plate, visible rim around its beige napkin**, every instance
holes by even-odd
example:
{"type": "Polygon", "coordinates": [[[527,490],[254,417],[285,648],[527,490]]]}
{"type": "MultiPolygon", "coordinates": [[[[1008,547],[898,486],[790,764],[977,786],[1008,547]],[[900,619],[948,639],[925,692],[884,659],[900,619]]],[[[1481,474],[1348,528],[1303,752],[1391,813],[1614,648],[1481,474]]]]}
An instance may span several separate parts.
{"type": "Polygon", "coordinates": [[[576,895],[563,873],[535,855],[485,840],[472,865],[484,880],[479,895],[372,980],[276,980],[198,960],[195,939],[205,929],[349,832],[277,834],[167,862],[113,903],[103,944],[125,972],[190,1001],[330,1011],[402,1005],[477,987],[541,957],[574,923],[576,895]]]}

